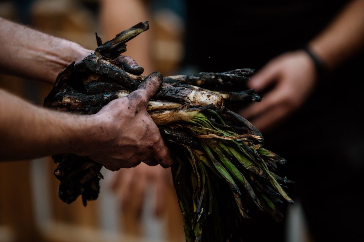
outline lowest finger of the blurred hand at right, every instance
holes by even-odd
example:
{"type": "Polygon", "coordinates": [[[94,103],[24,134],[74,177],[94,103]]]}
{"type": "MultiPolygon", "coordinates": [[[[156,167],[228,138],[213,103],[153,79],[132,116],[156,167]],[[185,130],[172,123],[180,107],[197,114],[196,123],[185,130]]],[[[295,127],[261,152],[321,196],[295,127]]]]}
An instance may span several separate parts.
{"type": "Polygon", "coordinates": [[[267,132],[272,130],[278,124],[287,118],[289,114],[289,109],[285,105],[278,105],[265,114],[259,116],[258,118],[252,120],[254,126],[256,126],[260,131],[267,132]]]}

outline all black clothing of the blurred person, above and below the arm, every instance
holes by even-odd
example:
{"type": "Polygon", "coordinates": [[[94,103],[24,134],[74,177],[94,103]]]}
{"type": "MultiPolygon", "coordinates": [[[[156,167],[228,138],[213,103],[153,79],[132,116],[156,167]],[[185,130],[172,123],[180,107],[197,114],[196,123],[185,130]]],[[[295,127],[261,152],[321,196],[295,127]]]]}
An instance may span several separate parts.
{"type": "MultiPolygon", "coordinates": [[[[273,57],[304,47],[345,1],[187,1],[186,63],[199,71],[259,70],[273,57]]],[[[314,241],[356,241],[364,167],[363,54],[319,80],[304,106],[270,134],[266,147],[288,160],[279,174],[296,180],[314,241]]],[[[245,241],[284,241],[284,224],[250,219],[245,241]],[[262,226],[267,233],[262,233],[262,226]],[[258,228],[258,230],[254,229],[258,228]],[[258,232],[259,231],[259,232],[258,232]],[[259,235],[257,237],[257,235],[259,235]]]]}

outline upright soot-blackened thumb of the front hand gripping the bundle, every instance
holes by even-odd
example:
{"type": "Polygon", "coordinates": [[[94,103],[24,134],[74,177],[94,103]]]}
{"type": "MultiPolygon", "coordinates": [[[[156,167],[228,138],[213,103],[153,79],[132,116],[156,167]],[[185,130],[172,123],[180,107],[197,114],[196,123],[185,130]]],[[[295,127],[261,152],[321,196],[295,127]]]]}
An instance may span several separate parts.
{"type": "Polygon", "coordinates": [[[131,103],[135,103],[137,110],[147,106],[149,99],[159,90],[163,82],[163,76],[155,71],[149,74],[134,92],[127,95],[131,103]]]}

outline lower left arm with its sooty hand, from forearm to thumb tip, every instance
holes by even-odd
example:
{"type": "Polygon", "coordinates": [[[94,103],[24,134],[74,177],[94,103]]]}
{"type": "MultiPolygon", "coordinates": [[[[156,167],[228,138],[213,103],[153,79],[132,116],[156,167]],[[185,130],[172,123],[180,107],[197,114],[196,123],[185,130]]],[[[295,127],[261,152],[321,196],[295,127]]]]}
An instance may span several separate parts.
{"type": "Polygon", "coordinates": [[[140,162],[169,167],[172,158],[146,111],[161,83],[162,75],[153,72],[137,90],[94,115],[48,110],[0,90],[0,160],[72,153],[110,170],[140,162]]]}

